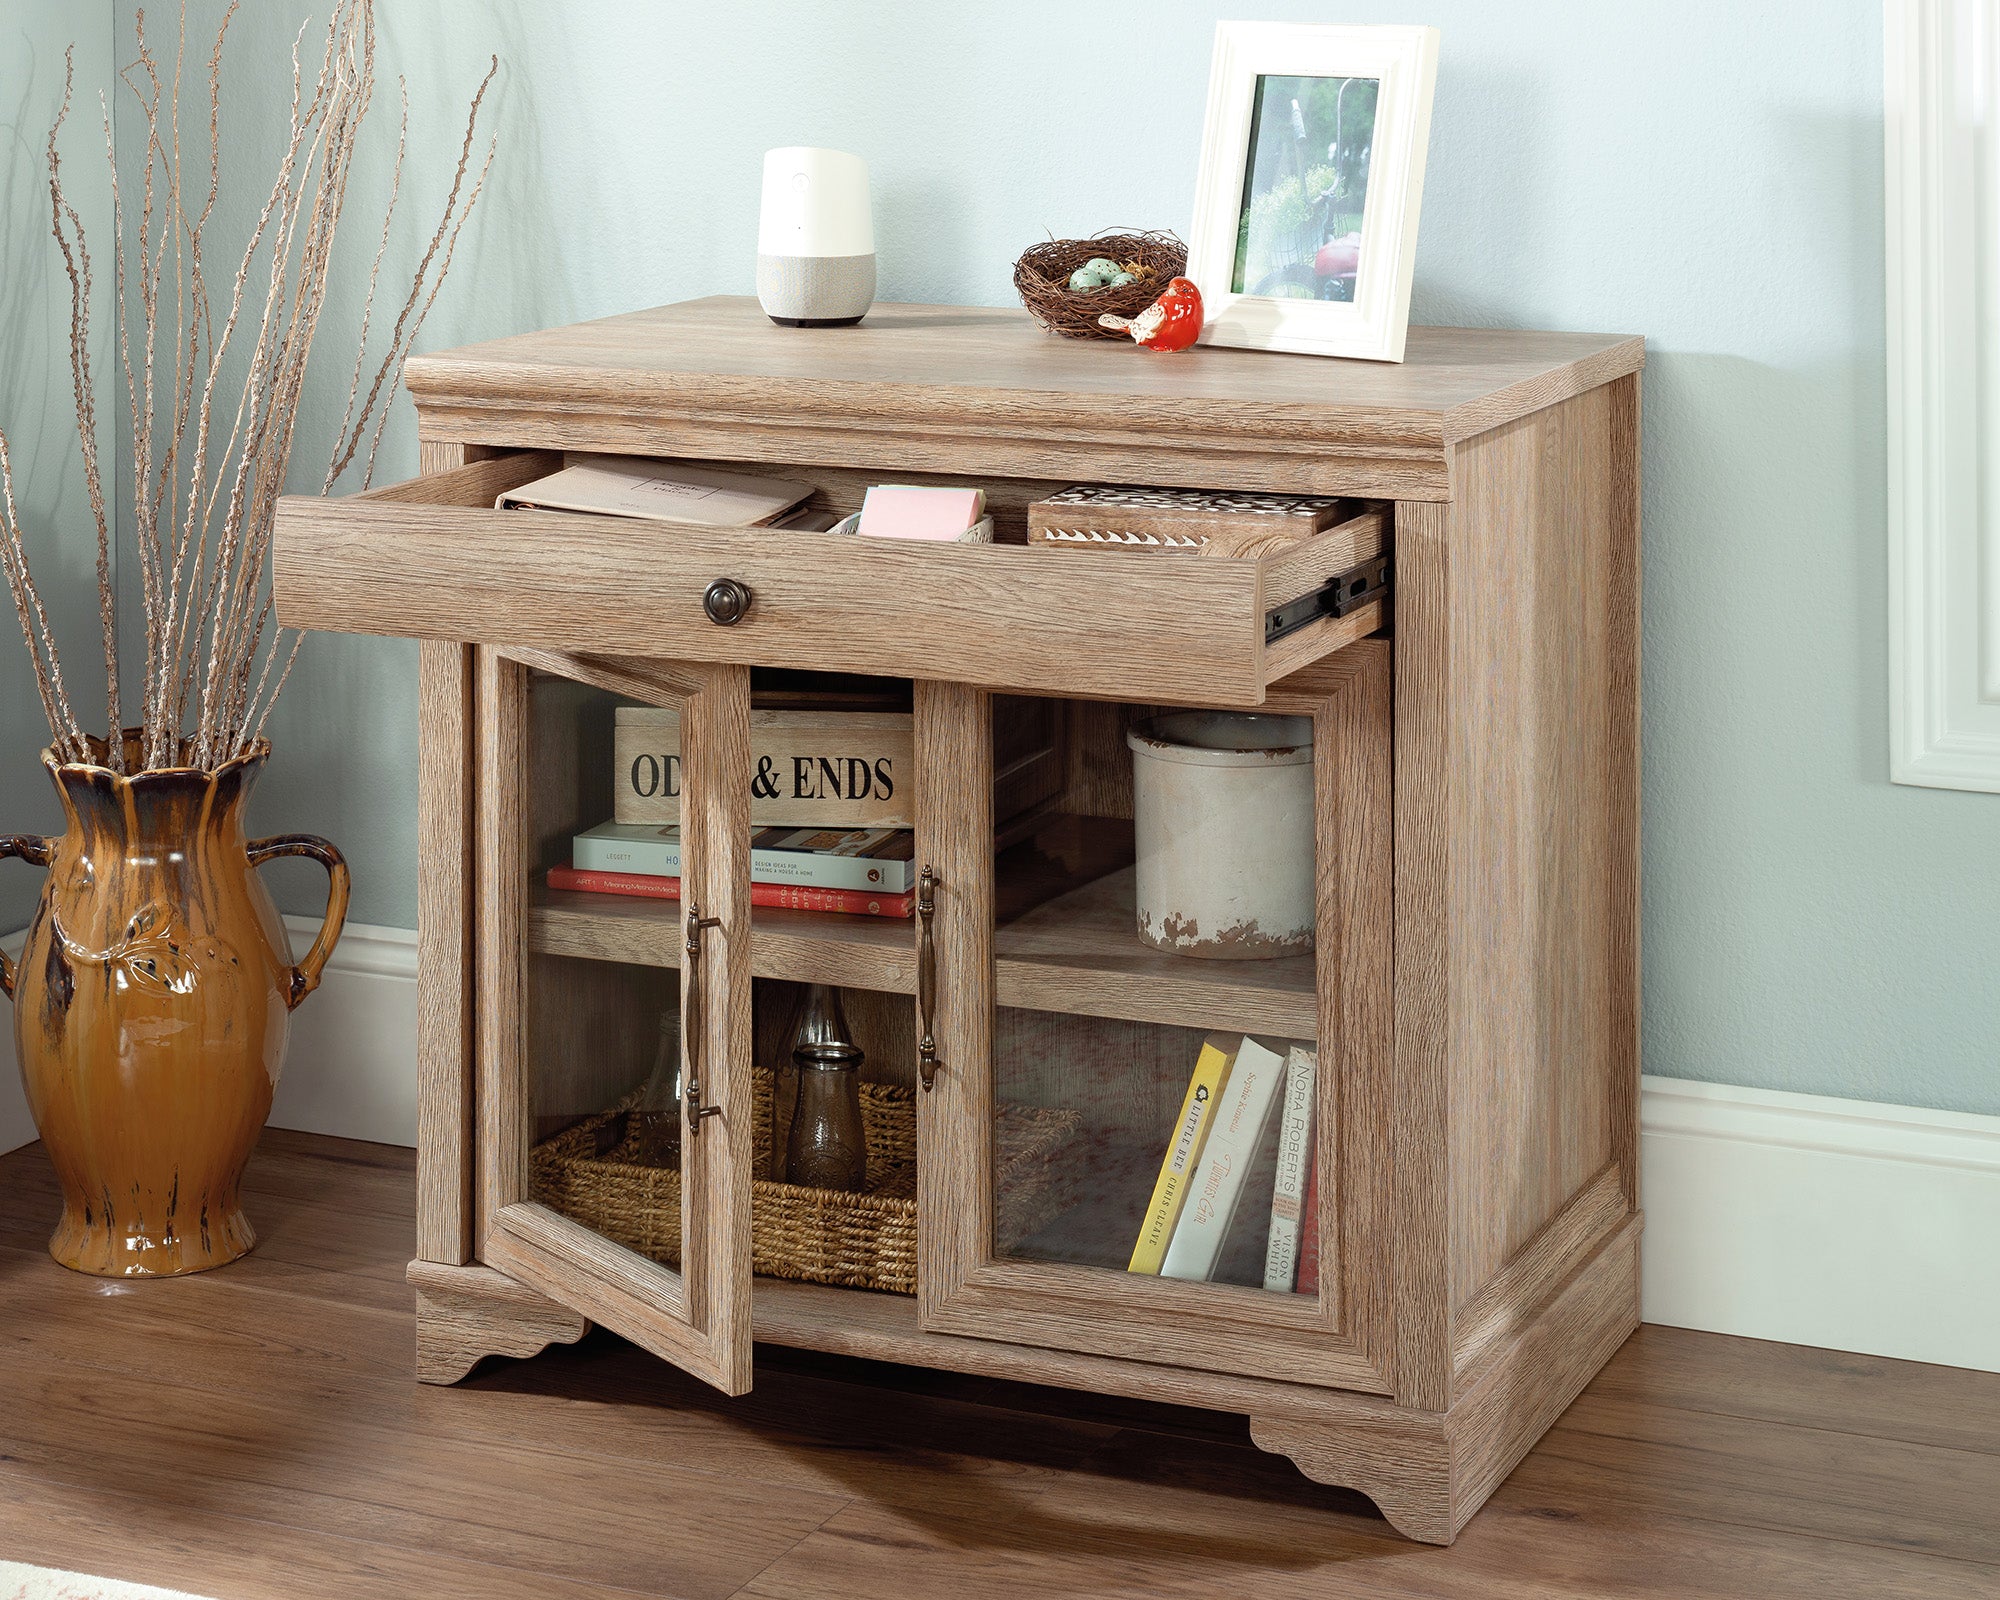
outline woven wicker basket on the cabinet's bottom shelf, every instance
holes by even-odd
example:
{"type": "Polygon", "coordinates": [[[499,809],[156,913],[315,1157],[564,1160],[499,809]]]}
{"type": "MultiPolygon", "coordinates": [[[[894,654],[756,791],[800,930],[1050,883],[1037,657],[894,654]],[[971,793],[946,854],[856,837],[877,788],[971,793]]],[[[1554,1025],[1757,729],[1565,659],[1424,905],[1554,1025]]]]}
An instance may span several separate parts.
{"type": "MultiPolygon", "coordinates": [[[[750,1266],[766,1278],[916,1294],[916,1094],[862,1084],[868,1192],[770,1182],[772,1074],[752,1102],[750,1266]]],[[[636,1130],[618,1108],[564,1128],[534,1150],[534,1198],[614,1244],[680,1266],[680,1174],[632,1160],[636,1130]]],[[[1018,1240],[1062,1208],[1070,1110],[1002,1104],[996,1124],[994,1234],[1018,1240]]]]}

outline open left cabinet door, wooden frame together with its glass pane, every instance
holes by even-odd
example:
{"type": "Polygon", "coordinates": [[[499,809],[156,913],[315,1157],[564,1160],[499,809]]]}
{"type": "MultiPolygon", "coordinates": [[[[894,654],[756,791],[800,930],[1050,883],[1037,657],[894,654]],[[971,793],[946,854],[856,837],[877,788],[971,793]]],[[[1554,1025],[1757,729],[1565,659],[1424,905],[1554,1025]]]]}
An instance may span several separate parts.
{"type": "Polygon", "coordinates": [[[480,1258],[740,1394],[748,672],[482,648],[476,726],[480,1258]],[[634,714],[658,826],[614,824],[634,714]]]}

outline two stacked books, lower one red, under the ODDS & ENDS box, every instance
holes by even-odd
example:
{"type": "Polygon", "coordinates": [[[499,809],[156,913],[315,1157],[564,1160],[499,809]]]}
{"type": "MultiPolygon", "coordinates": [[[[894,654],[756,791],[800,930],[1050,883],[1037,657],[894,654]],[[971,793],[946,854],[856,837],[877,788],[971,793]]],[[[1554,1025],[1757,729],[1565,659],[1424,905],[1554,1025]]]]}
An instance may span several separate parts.
{"type": "MultiPolygon", "coordinates": [[[[854,916],[910,916],[916,848],[908,828],[758,828],[750,836],[750,904],[854,916]]],[[[550,888],[680,898],[680,828],[602,822],[570,840],[550,888]]]]}

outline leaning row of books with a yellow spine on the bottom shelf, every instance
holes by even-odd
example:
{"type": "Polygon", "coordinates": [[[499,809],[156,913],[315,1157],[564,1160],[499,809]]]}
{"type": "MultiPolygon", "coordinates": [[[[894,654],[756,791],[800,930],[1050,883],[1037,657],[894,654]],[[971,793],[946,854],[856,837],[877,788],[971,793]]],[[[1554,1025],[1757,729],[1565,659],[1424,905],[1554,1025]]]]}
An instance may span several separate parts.
{"type": "Polygon", "coordinates": [[[1280,1054],[1248,1036],[1208,1036],[1128,1270],[1234,1280],[1226,1264],[1262,1244],[1266,1290],[1320,1292],[1316,1076],[1308,1044],[1280,1054]]]}

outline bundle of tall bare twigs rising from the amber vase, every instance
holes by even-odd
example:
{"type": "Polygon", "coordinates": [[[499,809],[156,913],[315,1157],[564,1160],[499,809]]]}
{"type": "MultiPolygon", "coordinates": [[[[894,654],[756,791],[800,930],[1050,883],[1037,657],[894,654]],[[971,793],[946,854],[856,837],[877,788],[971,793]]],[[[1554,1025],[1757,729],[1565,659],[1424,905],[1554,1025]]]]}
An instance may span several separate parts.
{"type": "MultiPolygon", "coordinates": [[[[374,100],[374,0],[336,0],[308,78],[300,58],[306,28],[292,44],[288,140],[278,174],[238,258],[220,304],[210,296],[204,234],[222,186],[222,46],[240,0],[232,0],[208,56],[206,172],[184,172],[180,90],[188,44],[186,4],[170,82],[136,20],[136,60],[120,80],[144,118],[146,168],[138,216],[118,182],[110,106],[104,148],[112,168],[112,266],[116,284],[118,370],[132,432],[132,540],[144,604],[144,664],[138,686],[138,756],[130,766],[118,666],[118,596],[112,580],[112,518],[98,466],[96,376],[90,368],[92,260],[84,226],[62,178],[60,132],[70,114],[72,60],[64,66],[62,108],[48,132],[50,218],[70,278],[70,374],[84,484],[98,532],[98,620],[104,630],[104,760],[118,772],[162,766],[212,768],[244,754],[298,658],[300,634],[286,638],[270,614],[270,534],[292,462],[306,362],[326,304],[334,238],[348,198],[362,122],[374,100]],[[198,188],[188,188],[188,178],[198,188]],[[248,340],[248,344],[244,344],[248,340]],[[236,350],[240,380],[226,372],[236,350]]],[[[458,168],[444,214],[396,314],[388,348],[372,374],[368,326],[402,194],[410,98],[402,120],[388,212],[356,336],[348,402],[322,492],[358,466],[362,486],[374,476],[376,448],[402,364],[450,270],[466,218],[492,166],[488,140],[474,168],[478,114],[498,72],[494,60],[466,114],[458,168]],[[364,376],[370,382],[362,384],[364,376]]],[[[196,154],[200,144],[196,140],[196,154]]],[[[14,510],[12,464],[0,434],[0,568],[6,570],[36,686],[64,760],[90,760],[90,746],[62,680],[56,638],[28,570],[14,510]]]]}

